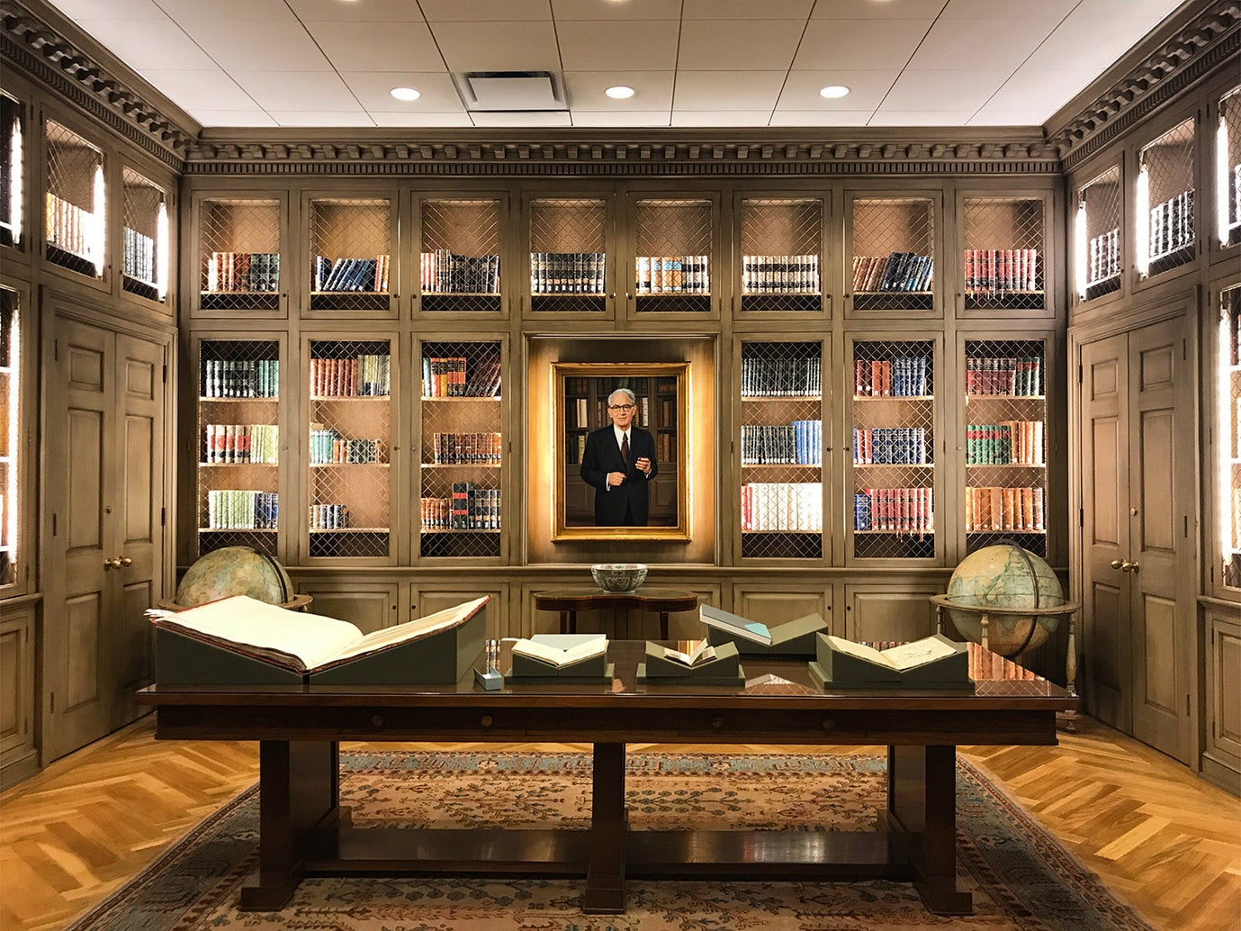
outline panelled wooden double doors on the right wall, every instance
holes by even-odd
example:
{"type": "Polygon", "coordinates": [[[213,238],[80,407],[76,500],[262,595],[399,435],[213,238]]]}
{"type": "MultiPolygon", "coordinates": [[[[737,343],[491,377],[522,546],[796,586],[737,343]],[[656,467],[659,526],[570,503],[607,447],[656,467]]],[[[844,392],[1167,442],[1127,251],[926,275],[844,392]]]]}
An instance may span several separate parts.
{"type": "Polygon", "coordinates": [[[1082,346],[1082,596],[1090,710],[1188,762],[1195,443],[1184,333],[1173,319],[1082,346]]]}

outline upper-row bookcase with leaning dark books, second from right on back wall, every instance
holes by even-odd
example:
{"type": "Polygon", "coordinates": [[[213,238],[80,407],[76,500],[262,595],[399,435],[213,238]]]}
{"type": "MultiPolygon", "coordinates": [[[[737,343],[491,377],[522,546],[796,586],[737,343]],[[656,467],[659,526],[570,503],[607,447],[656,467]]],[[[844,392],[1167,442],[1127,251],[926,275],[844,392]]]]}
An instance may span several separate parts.
{"type": "Polygon", "coordinates": [[[934,309],[934,207],[932,197],[850,199],[851,310],[934,309]]]}

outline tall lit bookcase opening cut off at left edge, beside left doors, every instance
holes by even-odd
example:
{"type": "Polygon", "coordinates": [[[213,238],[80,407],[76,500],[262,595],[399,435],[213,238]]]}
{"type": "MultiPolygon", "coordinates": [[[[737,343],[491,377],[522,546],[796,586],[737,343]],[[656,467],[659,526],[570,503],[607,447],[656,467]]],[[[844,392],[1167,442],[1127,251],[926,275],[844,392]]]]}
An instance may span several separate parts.
{"type": "Polygon", "coordinates": [[[17,570],[25,560],[19,540],[21,324],[17,292],[0,287],[0,592],[4,593],[17,583],[17,570]]]}

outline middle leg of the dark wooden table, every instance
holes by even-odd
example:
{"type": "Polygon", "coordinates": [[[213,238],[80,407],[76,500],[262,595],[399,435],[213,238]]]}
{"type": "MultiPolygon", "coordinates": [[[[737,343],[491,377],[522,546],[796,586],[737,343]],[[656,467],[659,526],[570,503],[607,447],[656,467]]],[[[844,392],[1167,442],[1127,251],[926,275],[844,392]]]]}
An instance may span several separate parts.
{"type": "Polygon", "coordinates": [[[591,786],[591,860],[582,911],[624,912],[624,744],[596,744],[591,786]]]}

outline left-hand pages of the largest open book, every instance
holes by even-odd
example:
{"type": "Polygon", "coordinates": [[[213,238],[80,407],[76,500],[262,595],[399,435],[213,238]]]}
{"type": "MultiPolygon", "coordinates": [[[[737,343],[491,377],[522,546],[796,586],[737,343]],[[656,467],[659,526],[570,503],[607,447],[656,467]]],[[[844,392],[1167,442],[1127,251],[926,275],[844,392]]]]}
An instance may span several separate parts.
{"type": "Polygon", "coordinates": [[[180,628],[195,639],[295,672],[328,662],[362,637],[347,621],[303,614],[246,595],[185,611],[151,608],[146,616],[153,623],[180,628]]]}

